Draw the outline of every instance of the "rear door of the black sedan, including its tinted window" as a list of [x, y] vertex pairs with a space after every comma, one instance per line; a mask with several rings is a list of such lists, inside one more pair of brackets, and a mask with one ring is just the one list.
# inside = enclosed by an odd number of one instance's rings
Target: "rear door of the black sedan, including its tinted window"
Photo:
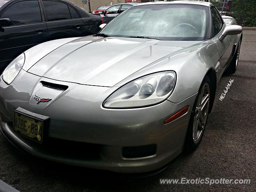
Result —
[[84, 22], [70, 5], [57, 0], [43, 0], [49, 39], [84, 36]]

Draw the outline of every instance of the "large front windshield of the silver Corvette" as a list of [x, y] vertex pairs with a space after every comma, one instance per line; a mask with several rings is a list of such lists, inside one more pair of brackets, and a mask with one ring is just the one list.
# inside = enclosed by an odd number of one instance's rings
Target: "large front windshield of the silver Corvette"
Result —
[[148, 37], [160, 40], [204, 40], [208, 33], [208, 9], [192, 4], [133, 6], [117, 16], [101, 34]]

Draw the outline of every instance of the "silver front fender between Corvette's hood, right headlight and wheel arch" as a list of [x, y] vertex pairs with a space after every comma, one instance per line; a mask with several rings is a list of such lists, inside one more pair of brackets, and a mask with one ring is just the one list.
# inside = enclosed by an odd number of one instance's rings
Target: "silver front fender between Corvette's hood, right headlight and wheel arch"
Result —
[[216, 43], [208, 40], [165, 56], [160, 61], [138, 70], [116, 86], [122, 86], [140, 76], [172, 70], [176, 72], [176, 86], [168, 100], [179, 103], [198, 92], [207, 72], [215, 68], [219, 58]]

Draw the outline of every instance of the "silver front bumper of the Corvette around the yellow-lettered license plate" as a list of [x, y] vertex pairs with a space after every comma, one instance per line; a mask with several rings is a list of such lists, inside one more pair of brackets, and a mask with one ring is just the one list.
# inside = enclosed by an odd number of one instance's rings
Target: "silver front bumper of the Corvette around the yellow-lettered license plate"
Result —
[[[42, 80], [67, 85], [68, 89], [62, 93], [50, 88], [46, 91], [39, 85]], [[196, 94], [178, 104], [166, 100], [145, 108], [103, 108], [102, 101], [115, 89], [57, 82], [22, 70], [10, 86], [0, 81], [1, 130], [12, 143], [34, 156], [114, 172], [149, 172], [180, 154]], [[36, 104], [33, 96], [38, 92], [54, 99]], [[186, 114], [163, 123], [185, 106], [189, 106]], [[18, 107], [50, 117], [47, 143], [38, 144], [13, 132], [13, 112]], [[154, 155], [123, 157], [124, 147], [152, 144], [156, 145]]]

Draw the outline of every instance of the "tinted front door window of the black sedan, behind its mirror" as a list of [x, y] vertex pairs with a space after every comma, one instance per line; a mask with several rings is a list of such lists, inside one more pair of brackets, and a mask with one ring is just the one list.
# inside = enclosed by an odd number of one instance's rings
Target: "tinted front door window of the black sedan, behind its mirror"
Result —
[[17, 2], [10, 6], [2, 14], [1, 18], [9, 18], [11, 20], [11, 25], [22, 25], [42, 21], [37, 0]]

